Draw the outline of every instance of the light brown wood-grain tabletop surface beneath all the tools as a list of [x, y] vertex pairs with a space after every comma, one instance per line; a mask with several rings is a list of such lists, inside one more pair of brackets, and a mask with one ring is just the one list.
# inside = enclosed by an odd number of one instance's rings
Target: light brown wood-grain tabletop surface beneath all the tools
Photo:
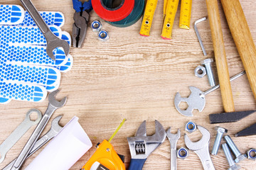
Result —
[[[255, 0], [240, 0], [240, 3], [245, 12], [252, 37], [256, 41], [256, 2]], [[0, 4], [21, 5], [18, 0], [1, 0]], [[74, 9], [71, 0], [33, 0], [33, 4], [40, 11], [63, 12], [65, 25], [62, 30], [72, 33]], [[74, 58], [73, 69], [62, 75], [61, 91], [57, 96], [59, 99], [68, 96], [68, 102], [53, 115], [53, 118], [60, 114], [63, 115], [60, 120], [61, 125], [68, 123], [74, 115], [78, 116], [82, 128], [92, 140], [92, 149], [81, 157], [71, 169], [80, 169], [95, 152], [97, 142], [108, 139], [123, 118], [127, 118], [127, 122], [112, 140], [112, 145], [119, 154], [124, 154], [127, 168], [130, 160], [127, 137], [134, 136], [143, 120], [147, 122], [148, 135], [154, 134], [154, 120], [159, 120], [165, 129], [171, 126], [172, 132], [176, 132], [180, 128], [181, 138], [178, 141], [178, 148], [185, 147], [183, 140], [185, 124], [188, 120], [193, 120], [210, 131], [210, 150], [212, 149], [216, 132], [214, 130], [215, 125], [209, 123], [208, 114], [223, 112], [220, 90], [208, 94], [203, 112], [195, 111], [191, 118], [181, 115], [174, 107], [174, 96], [177, 91], [181, 93], [181, 96], [188, 96], [188, 86], [196, 86], [202, 91], [210, 88], [207, 77], [199, 79], [194, 76], [193, 71], [201, 60], [206, 58], [203, 56], [192, 27], [194, 21], [207, 15], [206, 2], [193, 0], [190, 30], [178, 28], [179, 13], [180, 10], [178, 9], [173, 39], [163, 40], [160, 37], [163, 0], [159, 0], [156, 7], [149, 37], [139, 35], [141, 20], [128, 28], [114, 28], [102, 21], [94, 11], [91, 12], [90, 21], [100, 19], [103, 28], [110, 33], [110, 40], [107, 42], [97, 40], [97, 34], [89, 28], [83, 47], [70, 49], [70, 54]], [[220, 16], [229, 72], [230, 76], [233, 76], [243, 70], [242, 62], [230, 35], [221, 6]], [[213, 57], [208, 21], [200, 23], [198, 29], [208, 52], [207, 57]], [[215, 64], [213, 68], [215, 69]], [[217, 77], [217, 74], [215, 75]], [[255, 98], [252, 96], [247, 77], [243, 76], [231, 84], [235, 110], [255, 109]], [[47, 100], [42, 103], [11, 101], [9, 104], [1, 105], [0, 143], [21, 123], [29, 109], [38, 108], [44, 113], [47, 106]], [[233, 137], [241, 152], [246, 152], [251, 147], [256, 147], [255, 136], [234, 137], [234, 134], [253, 123], [256, 123], [256, 113], [238, 123], [225, 123], [220, 126], [228, 128], [228, 135]], [[49, 128], [50, 123], [44, 132], [47, 132]], [[18, 156], [31, 132], [33, 132], [33, 128], [8, 152], [6, 159], [0, 164], [0, 168]], [[200, 132], [197, 131], [194, 134], [196, 135], [193, 137], [190, 135], [193, 141], [201, 138]], [[38, 152], [26, 161], [24, 167], [36, 157]], [[215, 169], [228, 168], [228, 162], [222, 149], [212, 159]], [[242, 166], [242, 169], [256, 169], [256, 162], [252, 160], [245, 160], [239, 165]], [[146, 160], [144, 169], [164, 170], [170, 169], [169, 166], [170, 145], [169, 141], [166, 140]], [[187, 159], [177, 159], [177, 166], [178, 169], [203, 169], [200, 160], [193, 152], [189, 152]]]

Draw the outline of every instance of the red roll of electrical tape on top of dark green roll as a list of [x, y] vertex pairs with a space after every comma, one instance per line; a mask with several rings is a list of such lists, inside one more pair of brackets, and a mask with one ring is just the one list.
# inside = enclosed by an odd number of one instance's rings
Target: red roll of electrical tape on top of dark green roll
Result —
[[121, 21], [132, 12], [134, 0], [122, 0], [122, 4], [117, 8], [107, 8], [102, 0], [92, 0], [92, 8], [105, 21]]

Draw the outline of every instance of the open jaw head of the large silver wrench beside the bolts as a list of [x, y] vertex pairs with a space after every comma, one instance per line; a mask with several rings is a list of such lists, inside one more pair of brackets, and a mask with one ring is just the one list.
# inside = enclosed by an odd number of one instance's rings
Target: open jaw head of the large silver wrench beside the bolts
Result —
[[206, 128], [203, 128], [200, 125], [198, 125], [197, 128], [202, 133], [202, 138], [198, 142], [191, 142], [191, 140], [188, 138], [188, 135], [186, 134], [184, 135], [186, 147], [188, 147], [188, 149], [191, 149], [193, 151], [202, 149], [203, 147], [208, 145], [210, 142], [210, 132]]

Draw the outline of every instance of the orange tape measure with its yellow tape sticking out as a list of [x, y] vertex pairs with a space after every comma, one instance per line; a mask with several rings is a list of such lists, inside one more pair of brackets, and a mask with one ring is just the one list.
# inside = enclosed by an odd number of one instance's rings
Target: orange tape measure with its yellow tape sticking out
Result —
[[114, 131], [109, 141], [103, 140], [100, 145], [97, 145], [96, 152], [92, 154], [89, 161], [82, 166], [82, 170], [125, 170], [124, 160], [120, 158], [122, 155], [117, 154], [114, 147], [110, 144], [110, 141], [122, 127], [125, 120], [126, 119], [122, 120], [122, 123], [118, 126], [117, 130]]

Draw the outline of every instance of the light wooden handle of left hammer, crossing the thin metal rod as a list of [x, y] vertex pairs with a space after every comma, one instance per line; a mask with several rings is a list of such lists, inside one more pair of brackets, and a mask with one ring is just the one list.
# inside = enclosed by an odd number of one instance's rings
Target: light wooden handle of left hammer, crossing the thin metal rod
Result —
[[220, 93], [223, 101], [223, 107], [225, 112], [234, 112], [235, 106], [230, 85], [228, 62], [226, 59], [225, 46], [223, 41], [223, 32], [220, 25], [218, 1], [206, 0], [206, 5], [210, 23], [210, 33], [213, 39], [213, 49], [218, 72], [218, 79], [220, 82]]

